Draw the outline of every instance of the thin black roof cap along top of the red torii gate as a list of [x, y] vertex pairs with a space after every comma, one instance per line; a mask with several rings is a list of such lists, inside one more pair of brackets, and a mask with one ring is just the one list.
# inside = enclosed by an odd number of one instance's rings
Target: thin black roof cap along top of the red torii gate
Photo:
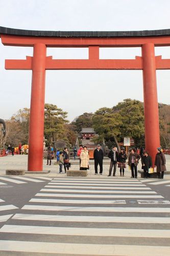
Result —
[[142, 37], [170, 35], [170, 29], [139, 31], [40, 31], [0, 27], [0, 34], [48, 37]]

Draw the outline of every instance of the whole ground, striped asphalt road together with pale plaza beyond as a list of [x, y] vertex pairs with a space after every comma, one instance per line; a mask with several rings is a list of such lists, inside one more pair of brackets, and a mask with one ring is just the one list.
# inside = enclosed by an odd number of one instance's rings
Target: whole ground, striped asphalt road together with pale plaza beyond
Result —
[[46, 160], [48, 174], [7, 176], [5, 169], [27, 169], [27, 156], [0, 158], [0, 255], [170, 254], [169, 175], [130, 179], [117, 168], [108, 177], [107, 158], [103, 175], [94, 175], [90, 162], [87, 177], [60, 175]]

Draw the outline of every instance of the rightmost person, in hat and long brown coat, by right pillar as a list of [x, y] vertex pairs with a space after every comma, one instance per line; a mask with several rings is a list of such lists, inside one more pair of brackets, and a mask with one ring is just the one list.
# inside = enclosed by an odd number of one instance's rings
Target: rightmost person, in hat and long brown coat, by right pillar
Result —
[[159, 179], [163, 179], [164, 172], [166, 170], [165, 164], [166, 164], [166, 159], [163, 154], [162, 148], [157, 147], [157, 154], [155, 157], [155, 165], [156, 165], [156, 172], [158, 174]]

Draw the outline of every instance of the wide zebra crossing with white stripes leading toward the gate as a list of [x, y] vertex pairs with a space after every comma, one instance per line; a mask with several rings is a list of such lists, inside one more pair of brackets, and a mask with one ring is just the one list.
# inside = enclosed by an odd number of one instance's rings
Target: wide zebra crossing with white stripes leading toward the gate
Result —
[[[58, 180], [49, 180], [28, 204], [9, 217], [0, 229], [2, 237], [10, 236], [8, 241], [0, 240], [2, 251], [113, 256], [170, 254], [170, 202], [150, 187], [131, 180]], [[68, 182], [64, 184], [65, 180]], [[135, 204], [129, 207], [127, 203]], [[76, 243], [72, 243], [72, 238]]]

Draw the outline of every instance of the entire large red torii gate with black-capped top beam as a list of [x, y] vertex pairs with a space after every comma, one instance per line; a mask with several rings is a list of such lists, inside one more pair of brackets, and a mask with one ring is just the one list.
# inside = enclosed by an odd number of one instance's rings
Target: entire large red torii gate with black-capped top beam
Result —
[[[170, 30], [120, 32], [31, 31], [0, 27], [5, 46], [33, 47], [33, 57], [6, 60], [9, 70], [32, 70], [28, 170], [41, 171], [43, 163], [45, 70], [142, 70], [145, 147], [154, 161], [160, 146], [156, 70], [170, 69], [170, 59], [155, 56], [155, 46], [170, 46]], [[47, 47], [89, 49], [88, 59], [53, 59]], [[100, 47], [141, 47], [135, 59], [99, 59]]]

